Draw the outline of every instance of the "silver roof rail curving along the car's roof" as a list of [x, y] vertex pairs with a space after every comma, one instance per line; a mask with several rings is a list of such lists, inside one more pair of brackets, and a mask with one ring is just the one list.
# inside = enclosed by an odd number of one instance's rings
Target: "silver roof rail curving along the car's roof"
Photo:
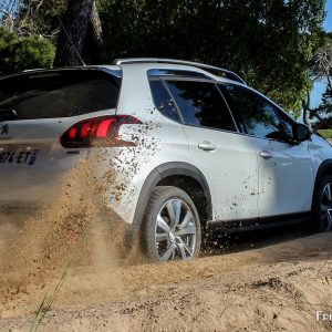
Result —
[[242, 84], [247, 84], [239, 75], [237, 75], [236, 73], [222, 69], [222, 68], [218, 68], [218, 66], [214, 66], [214, 65], [209, 65], [209, 64], [204, 64], [204, 63], [198, 63], [198, 62], [191, 62], [191, 61], [185, 61], [185, 60], [176, 60], [176, 59], [162, 59], [162, 58], [126, 58], [126, 59], [115, 59], [113, 61], [113, 64], [123, 64], [123, 63], [173, 63], [173, 64], [184, 64], [184, 65], [191, 65], [191, 66], [196, 66], [199, 69], [203, 69], [216, 76], [221, 76], [221, 77], [226, 77], [228, 80], [232, 80]]

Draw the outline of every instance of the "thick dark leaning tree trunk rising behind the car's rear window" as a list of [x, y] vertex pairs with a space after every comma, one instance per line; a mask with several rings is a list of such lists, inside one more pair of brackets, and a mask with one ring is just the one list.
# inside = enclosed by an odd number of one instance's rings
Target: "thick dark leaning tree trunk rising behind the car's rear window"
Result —
[[83, 64], [81, 53], [93, 0], [70, 0], [58, 39], [54, 66]]

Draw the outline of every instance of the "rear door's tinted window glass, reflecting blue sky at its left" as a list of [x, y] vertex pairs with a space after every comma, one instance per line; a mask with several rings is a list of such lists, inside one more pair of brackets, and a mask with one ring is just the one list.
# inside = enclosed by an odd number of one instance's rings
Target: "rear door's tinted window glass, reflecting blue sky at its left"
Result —
[[186, 124], [236, 132], [230, 111], [215, 83], [165, 81]]

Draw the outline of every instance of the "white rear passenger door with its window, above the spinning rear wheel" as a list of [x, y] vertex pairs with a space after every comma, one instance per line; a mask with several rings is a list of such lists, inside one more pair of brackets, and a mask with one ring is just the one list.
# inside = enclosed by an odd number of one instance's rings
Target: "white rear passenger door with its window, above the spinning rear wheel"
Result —
[[194, 165], [209, 185], [214, 219], [257, 218], [258, 164], [252, 138], [239, 134], [217, 85], [165, 79], [183, 117]]

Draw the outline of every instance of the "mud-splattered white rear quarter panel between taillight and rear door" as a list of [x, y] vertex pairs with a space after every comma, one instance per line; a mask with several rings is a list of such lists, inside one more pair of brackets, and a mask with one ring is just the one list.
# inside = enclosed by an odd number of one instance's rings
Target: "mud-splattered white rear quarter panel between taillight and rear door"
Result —
[[137, 117], [139, 125], [122, 125], [120, 137], [132, 147], [92, 151], [96, 178], [105, 204], [132, 224], [138, 197], [147, 176], [169, 162], [190, 163], [188, 142], [181, 125], [164, 117], [155, 107], [147, 69], [122, 68], [123, 81], [116, 114]]

